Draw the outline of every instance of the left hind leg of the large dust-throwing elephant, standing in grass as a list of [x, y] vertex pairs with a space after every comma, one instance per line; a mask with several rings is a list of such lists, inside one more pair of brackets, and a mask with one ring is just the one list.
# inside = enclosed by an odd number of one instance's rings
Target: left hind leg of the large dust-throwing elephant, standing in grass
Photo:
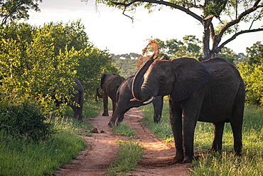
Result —
[[224, 131], [225, 122], [213, 123], [214, 125], [214, 140], [210, 151], [222, 150], [222, 133]]

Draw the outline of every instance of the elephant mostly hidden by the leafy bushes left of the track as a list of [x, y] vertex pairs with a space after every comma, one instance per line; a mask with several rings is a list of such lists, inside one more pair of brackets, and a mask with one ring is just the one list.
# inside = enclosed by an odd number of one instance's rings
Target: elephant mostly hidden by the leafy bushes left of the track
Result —
[[[82, 84], [80, 81], [77, 80], [77, 78], [73, 78], [75, 81], [76, 85], [74, 86], [74, 89], [77, 90], [77, 93], [73, 93], [73, 98], [71, 100], [77, 105], [70, 104], [70, 107], [73, 109], [74, 112], [74, 118], [77, 120], [82, 120], [82, 108], [83, 108], [83, 95], [84, 95], [84, 89], [82, 87]], [[55, 99], [56, 106], [59, 107], [60, 104], [62, 103], [60, 100]]]

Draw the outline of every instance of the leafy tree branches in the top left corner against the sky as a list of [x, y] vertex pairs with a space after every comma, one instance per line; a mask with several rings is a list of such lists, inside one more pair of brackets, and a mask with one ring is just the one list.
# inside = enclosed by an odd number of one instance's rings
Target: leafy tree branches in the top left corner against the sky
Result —
[[38, 2], [42, 0], [0, 0], [1, 27], [8, 21], [28, 19], [28, 11], [40, 11]]

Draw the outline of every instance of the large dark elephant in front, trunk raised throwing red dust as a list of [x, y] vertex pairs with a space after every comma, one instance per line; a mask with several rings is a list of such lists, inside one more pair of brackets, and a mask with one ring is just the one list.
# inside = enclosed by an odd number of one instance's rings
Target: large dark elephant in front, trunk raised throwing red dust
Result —
[[193, 58], [151, 58], [136, 73], [132, 91], [134, 98], [141, 101], [168, 95], [176, 146], [174, 162], [192, 162], [197, 120], [215, 127], [210, 150], [222, 149], [223, 128], [230, 123], [234, 151], [237, 155], [242, 152], [245, 85], [237, 68], [225, 59], [215, 57], [199, 62]]

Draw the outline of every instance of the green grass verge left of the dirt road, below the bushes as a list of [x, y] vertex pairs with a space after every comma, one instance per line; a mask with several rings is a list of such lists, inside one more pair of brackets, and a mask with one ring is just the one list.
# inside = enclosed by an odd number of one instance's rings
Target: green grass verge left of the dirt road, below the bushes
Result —
[[0, 132], [0, 175], [52, 175], [61, 165], [70, 163], [86, 147], [77, 136], [90, 135], [81, 130], [92, 128], [85, 119], [95, 118], [101, 106], [85, 103], [83, 109], [82, 122], [66, 117], [68, 114], [64, 118], [50, 117], [55, 133], [38, 143]]

